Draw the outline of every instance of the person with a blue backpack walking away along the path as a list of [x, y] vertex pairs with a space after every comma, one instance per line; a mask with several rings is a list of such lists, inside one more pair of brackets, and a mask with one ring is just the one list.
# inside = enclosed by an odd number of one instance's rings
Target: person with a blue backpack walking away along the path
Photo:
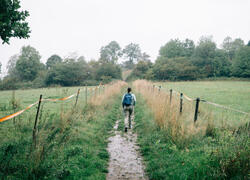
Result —
[[131, 129], [131, 120], [134, 119], [134, 106], [136, 102], [135, 95], [131, 93], [132, 89], [129, 87], [127, 91], [122, 98], [122, 108], [125, 115], [125, 132], [128, 131], [128, 128]]

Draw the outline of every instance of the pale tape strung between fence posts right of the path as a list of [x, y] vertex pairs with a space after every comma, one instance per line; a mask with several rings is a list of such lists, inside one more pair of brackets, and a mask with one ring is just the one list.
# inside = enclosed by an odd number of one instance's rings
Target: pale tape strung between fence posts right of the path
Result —
[[[157, 87], [156, 85], [153, 85], [153, 87]], [[158, 86], [159, 89], [167, 89], [167, 88], [163, 88], [162, 86]], [[173, 89], [170, 89], [170, 91], [176, 93], [176, 94], [181, 94], [180, 92], [178, 91], [175, 91]], [[170, 92], [171, 93], [171, 92]], [[183, 94], [183, 93], [182, 93]], [[190, 97], [188, 97], [186, 94], [183, 94], [183, 97], [188, 100], [188, 101], [197, 101], [197, 99], [192, 99]], [[209, 101], [206, 101], [204, 99], [201, 99], [199, 100], [201, 102], [204, 102], [204, 103], [207, 103], [207, 104], [210, 104], [210, 105], [213, 105], [213, 106], [216, 106], [216, 107], [220, 107], [220, 108], [224, 108], [224, 109], [228, 109], [228, 110], [231, 110], [231, 111], [235, 111], [235, 112], [238, 112], [238, 113], [242, 113], [242, 114], [245, 114], [245, 115], [250, 115], [250, 113], [247, 113], [247, 112], [244, 112], [244, 111], [241, 111], [241, 110], [238, 110], [238, 109], [234, 109], [234, 108], [230, 108], [230, 107], [227, 107], [227, 106], [224, 106], [224, 105], [220, 105], [220, 104], [216, 104], [216, 103], [213, 103], [213, 102], [209, 102]]]

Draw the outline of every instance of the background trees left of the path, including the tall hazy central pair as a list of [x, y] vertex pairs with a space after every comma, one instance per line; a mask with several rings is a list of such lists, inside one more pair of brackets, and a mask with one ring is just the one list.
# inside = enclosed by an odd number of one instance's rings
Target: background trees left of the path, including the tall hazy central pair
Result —
[[[140, 54], [138, 44], [128, 44], [124, 49], [116, 41], [101, 47], [98, 60], [86, 61], [84, 56], [72, 53], [62, 58], [50, 56], [41, 62], [40, 53], [31, 46], [23, 46], [19, 54], [13, 55], [7, 63], [7, 75], [0, 80], [0, 89], [39, 88], [47, 86], [80, 86], [108, 83], [122, 79], [122, 68], [133, 68]], [[124, 57], [125, 63], [118, 59]]]

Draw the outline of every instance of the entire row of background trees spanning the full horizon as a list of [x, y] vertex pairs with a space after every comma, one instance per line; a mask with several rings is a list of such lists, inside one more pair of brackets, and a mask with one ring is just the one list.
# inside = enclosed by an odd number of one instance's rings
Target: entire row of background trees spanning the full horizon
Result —
[[[119, 62], [120, 58], [125, 61]], [[240, 38], [226, 37], [218, 48], [207, 36], [201, 37], [197, 45], [190, 39], [172, 39], [160, 48], [154, 63], [135, 43], [122, 49], [111, 41], [101, 47], [98, 60], [87, 62], [74, 53], [65, 58], [54, 54], [45, 64], [35, 48], [24, 46], [20, 54], [9, 59], [8, 74], [0, 81], [0, 89], [97, 85], [121, 79], [122, 71], [128, 69], [132, 70], [128, 80], [250, 78], [250, 41], [244, 44]]]

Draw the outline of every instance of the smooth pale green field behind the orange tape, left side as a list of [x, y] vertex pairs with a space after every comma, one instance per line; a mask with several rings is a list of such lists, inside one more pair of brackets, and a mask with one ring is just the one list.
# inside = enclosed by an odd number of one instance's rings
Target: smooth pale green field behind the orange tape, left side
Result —
[[[93, 87], [88, 87], [88, 98], [93, 96], [94, 91], [90, 91]], [[30, 90], [15, 90], [15, 91], [1, 91], [0, 94], [0, 117], [12, 114], [14, 111], [18, 111], [26, 108], [28, 105], [38, 101], [40, 94], [43, 95], [43, 99], [58, 99], [67, 97], [72, 94], [76, 94], [80, 89], [78, 105], [82, 106], [86, 103], [86, 92], [85, 87], [54, 87], [54, 88], [41, 88], [41, 89], [30, 89]], [[14, 93], [14, 95], [13, 95]], [[13, 107], [13, 98], [17, 107]], [[76, 96], [66, 101], [57, 102], [43, 102], [43, 111], [46, 112], [57, 112], [61, 108], [71, 108], [75, 104]], [[34, 114], [36, 108], [31, 108], [25, 114]]]

